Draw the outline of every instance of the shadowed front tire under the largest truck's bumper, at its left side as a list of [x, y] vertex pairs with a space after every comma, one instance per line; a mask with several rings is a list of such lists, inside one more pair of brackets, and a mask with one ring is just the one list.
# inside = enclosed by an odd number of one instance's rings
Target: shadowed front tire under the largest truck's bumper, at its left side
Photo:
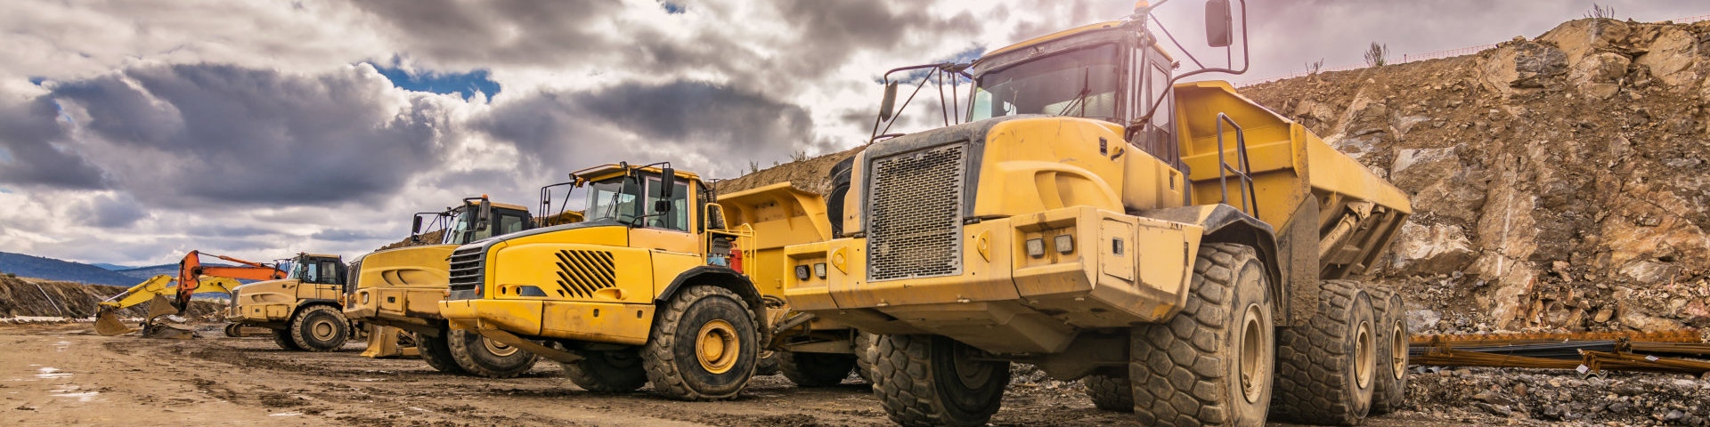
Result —
[[1009, 362], [968, 362], [990, 369], [978, 386], [958, 379], [956, 352], [978, 352], [937, 335], [879, 335], [872, 393], [901, 425], [985, 425], [1004, 405]]

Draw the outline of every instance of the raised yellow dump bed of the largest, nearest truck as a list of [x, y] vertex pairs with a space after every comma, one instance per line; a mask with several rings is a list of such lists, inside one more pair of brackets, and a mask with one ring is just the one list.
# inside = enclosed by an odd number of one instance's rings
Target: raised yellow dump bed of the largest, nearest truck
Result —
[[[1407, 193], [1228, 82], [1178, 84], [1175, 96], [1190, 203], [1224, 202], [1253, 214], [1276, 229], [1293, 260], [1317, 258], [1318, 278], [1368, 270], [1412, 214]], [[1245, 167], [1236, 155], [1241, 143]], [[1241, 169], [1252, 176], [1250, 193]]]

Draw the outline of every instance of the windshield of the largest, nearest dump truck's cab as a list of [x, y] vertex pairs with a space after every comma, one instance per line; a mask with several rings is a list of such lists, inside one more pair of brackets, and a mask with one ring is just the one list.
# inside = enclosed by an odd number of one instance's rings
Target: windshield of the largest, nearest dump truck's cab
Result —
[[1118, 61], [1115, 44], [1100, 44], [982, 73], [968, 118], [1057, 114], [1117, 121]]

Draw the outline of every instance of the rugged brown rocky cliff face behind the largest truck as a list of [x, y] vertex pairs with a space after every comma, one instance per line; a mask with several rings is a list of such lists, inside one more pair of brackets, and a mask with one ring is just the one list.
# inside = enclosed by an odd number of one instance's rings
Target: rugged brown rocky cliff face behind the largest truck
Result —
[[1710, 22], [1582, 19], [1241, 92], [1412, 195], [1375, 280], [1423, 330], [1710, 326]]

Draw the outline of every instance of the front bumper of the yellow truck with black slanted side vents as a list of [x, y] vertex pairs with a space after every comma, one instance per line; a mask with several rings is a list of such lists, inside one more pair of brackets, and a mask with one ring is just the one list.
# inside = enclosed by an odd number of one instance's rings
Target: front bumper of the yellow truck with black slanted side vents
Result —
[[578, 302], [545, 299], [451, 299], [439, 316], [453, 328], [496, 328], [522, 336], [604, 343], [646, 343], [653, 325], [652, 304]]

